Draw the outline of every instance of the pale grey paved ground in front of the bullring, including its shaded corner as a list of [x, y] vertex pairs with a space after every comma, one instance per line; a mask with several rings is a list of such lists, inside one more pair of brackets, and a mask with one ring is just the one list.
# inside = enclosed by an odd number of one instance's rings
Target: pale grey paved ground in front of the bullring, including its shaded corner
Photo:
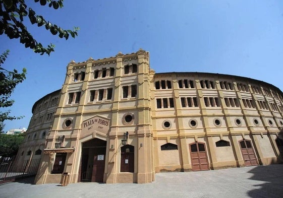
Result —
[[156, 181], [33, 185], [33, 178], [0, 185], [0, 197], [283, 197], [283, 164], [199, 172], [157, 173]]

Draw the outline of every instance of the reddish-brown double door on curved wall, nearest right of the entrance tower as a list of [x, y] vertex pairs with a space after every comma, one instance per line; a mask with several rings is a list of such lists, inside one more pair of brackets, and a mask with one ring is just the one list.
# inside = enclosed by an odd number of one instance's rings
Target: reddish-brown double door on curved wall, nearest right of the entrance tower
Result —
[[209, 170], [208, 159], [205, 151], [204, 143], [190, 144], [192, 170]]

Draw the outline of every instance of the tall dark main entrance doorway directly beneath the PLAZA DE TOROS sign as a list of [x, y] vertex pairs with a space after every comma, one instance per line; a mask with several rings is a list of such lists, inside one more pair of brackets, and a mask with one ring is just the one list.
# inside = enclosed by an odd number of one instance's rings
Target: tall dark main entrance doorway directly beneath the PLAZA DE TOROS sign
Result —
[[103, 182], [106, 143], [95, 138], [82, 144], [81, 181]]

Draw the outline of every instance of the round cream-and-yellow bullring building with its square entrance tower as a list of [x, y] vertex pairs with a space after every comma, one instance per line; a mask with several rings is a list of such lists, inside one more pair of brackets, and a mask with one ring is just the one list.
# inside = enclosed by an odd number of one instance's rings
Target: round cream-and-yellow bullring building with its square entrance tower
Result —
[[71, 61], [32, 107], [17, 167], [36, 184], [147, 183], [164, 171], [282, 162], [283, 93], [239, 76], [155, 73], [140, 49]]

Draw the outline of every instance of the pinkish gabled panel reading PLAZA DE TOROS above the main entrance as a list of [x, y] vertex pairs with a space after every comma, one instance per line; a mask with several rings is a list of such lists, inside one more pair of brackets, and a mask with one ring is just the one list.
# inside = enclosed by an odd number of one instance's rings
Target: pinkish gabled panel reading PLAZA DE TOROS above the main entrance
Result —
[[106, 134], [110, 128], [110, 119], [100, 116], [94, 116], [90, 119], [83, 121], [82, 133], [88, 133], [91, 131], [99, 131]]

